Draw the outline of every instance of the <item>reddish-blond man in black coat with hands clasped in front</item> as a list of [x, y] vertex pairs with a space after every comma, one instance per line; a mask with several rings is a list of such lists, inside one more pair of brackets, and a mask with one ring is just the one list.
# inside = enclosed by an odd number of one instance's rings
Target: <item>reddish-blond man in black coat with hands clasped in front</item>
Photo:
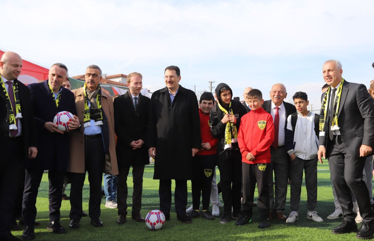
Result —
[[140, 93], [143, 84], [140, 73], [129, 73], [129, 91], [114, 99], [114, 129], [117, 135], [117, 162], [119, 178], [117, 183], [118, 224], [126, 222], [127, 176], [132, 166], [132, 219], [145, 222], [141, 216], [144, 165], [149, 164], [148, 149], [145, 146], [150, 98]]

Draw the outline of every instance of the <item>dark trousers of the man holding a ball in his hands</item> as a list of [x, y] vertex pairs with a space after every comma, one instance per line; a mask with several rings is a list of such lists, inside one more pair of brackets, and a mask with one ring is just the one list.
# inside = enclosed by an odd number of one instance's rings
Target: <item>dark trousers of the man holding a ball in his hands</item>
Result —
[[[25, 169], [25, 190], [22, 201], [22, 217], [26, 226], [32, 225], [36, 217], [36, 197], [44, 170]], [[65, 170], [49, 170], [49, 221], [60, 220], [61, 190]]]

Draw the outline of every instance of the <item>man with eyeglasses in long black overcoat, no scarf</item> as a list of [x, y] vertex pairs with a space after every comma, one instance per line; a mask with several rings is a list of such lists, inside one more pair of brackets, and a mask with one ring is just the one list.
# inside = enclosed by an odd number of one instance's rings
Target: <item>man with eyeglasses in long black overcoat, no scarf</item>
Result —
[[[160, 180], [160, 210], [170, 219], [171, 180], [175, 180], [175, 211], [182, 223], [186, 215], [187, 180], [192, 178], [192, 157], [201, 147], [196, 94], [179, 85], [180, 69], [165, 69], [166, 87], [152, 94], [147, 145], [154, 160], [153, 179]], [[156, 152], [157, 150], [157, 152]]]

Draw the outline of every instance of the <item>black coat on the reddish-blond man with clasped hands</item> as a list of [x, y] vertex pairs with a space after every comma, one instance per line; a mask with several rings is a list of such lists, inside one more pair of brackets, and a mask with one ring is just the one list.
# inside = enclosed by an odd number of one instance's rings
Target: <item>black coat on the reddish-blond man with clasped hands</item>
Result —
[[[116, 153], [119, 167], [149, 164], [147, 123], [150, 98], [138, 96], [138, 113], [129, 91], [114, 99], [114, 130], [117, 135]], [[132, 150], [132, 141], [143, 140], [142, 147]]]

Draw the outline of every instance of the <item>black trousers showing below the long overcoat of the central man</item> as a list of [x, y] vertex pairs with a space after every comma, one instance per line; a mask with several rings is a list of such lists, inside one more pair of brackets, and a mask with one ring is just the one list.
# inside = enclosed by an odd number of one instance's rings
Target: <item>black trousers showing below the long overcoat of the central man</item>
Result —
[[[165, 217], [170, 217], [171, 179], [160, 179], [159, 196], [160, 211], [165, 214]], [[175, 180], [174, 203], [177, 215], [186, 215], [187, 180]]]

